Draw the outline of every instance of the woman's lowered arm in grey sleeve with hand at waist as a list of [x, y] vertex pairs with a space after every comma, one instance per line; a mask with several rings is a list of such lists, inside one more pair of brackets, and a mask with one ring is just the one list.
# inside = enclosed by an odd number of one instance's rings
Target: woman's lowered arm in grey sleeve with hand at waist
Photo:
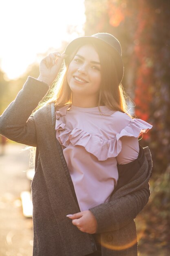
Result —
[[[131, 222], [148, 202], [152, 171], [149, 148], [140, 146], [137, 159], [121, 165], [120, 171], [125, 171], [126, 177], [123, 177], [121, 186], [118, 183], [119, 190], [114, 191], [109, 202], [68, 216], [82, 232], [94, 234], [120, 229]], [[131, 178], [128, 180], [129, 175]]]

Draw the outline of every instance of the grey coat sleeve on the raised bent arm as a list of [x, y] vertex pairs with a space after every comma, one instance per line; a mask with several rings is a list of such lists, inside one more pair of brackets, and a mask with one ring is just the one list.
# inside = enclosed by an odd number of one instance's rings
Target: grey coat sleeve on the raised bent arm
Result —
[[36, 146], [33, 110], [38, 106], [49, 86], [29, 76], [22, 90], [0, 116], [0, 134], [13, 141]]

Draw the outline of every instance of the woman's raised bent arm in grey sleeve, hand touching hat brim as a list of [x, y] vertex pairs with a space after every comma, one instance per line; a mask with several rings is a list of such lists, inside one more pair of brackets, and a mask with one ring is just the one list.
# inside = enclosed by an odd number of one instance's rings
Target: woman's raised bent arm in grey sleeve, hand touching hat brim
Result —
[[57, 58], [58, 52], [49, 54], [40, 62], [40, 76], [29, 76], [16, 99], [0, 116], [0, 134], [29, 146], [36, 146], [36, 132], [33, 110], [38, 106], [49, 86], [53, 83], [66, 54]]

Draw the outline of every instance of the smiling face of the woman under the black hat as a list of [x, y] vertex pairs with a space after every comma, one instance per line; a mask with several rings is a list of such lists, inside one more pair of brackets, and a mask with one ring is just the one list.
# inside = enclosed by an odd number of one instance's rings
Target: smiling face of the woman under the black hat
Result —
[[83, 45], [68, 66], [67, 82], [73, 94], [98, 97], [101, 83], [99, 56], [92, 45]]

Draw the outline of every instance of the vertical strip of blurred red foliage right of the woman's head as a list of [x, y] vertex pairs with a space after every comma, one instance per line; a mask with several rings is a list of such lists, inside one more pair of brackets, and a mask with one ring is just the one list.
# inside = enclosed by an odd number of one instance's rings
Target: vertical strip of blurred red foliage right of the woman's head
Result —
[[[137, 45], [134, 47], [134, 63], [139, 63], [137, 68], [137, 75], [135, 81], [135, 99], [136, 104], [135, 114], [137, 118], [148, 121], [150, 116], [150, 102], [152, 101], [152, 94], [150, 91], [150, 84], [152, 84], [152, 59], [150, 44], [150, 29], [154, 15], [145, 1], [139, 0], [139, 12], [137, 16], [138, 27], [134, 35], [134, 42]], [[149, 135], [145, 134], [144, 139], [148, 139]]]

